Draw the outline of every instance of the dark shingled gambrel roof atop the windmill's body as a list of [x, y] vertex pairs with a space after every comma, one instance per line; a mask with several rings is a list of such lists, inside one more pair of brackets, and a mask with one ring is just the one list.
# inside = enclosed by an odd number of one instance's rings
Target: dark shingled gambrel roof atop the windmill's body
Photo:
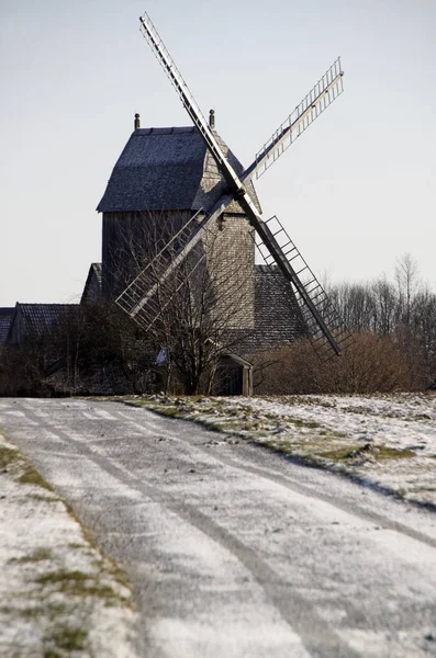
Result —
[[[242, 173], [244, 167], [216, 133], [215, 138], [236, 173]], [[208, 209], [225, 188], [194, 126], [138, 128], [115, 163], [97, 209], [100, 213]], [[258, 205], [253, 183], [247, 189]], [[228, 212], [242, 209], [238, 206]]]

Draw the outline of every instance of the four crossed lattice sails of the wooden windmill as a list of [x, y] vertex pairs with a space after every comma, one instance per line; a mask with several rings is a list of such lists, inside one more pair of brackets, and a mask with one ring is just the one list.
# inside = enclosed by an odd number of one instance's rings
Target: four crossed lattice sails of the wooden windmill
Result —
[[[203, 231], [206, 230], [206, 226], [215, 217], [220, 216], [233, 200], [237, 200], [259, 237], [267, 263], [270, 265], [273, 263], [295, 291], [303, 317], [305, 318], [308, 333], [315, 348], [317, 348], [317, 351], [326, 354], [340, 354], [342, 349], [350, 342], [350, 334], [346, 332], [325, 291], [286, 234], [283, 227], [279, 225], [277, 230], [271, 229], [273, 224], [261, 219], [256, 205], [244, 185], [244, 180], [251, 178], [256, 170], [261, 168], [265, 170], [271, 161], [277, 159], [280, 151], [284, 150], [286, 145], [292, 143], [297, 129], [301, 132], [305, 129], [317, 115], [316, 112], [321, 113], [332, 102], [325, 100], [331, 91], [334, 93], [338, 93], [338, 89], [342, 91], [343, 73], [340, 63], [337, 60], [328, 69], [325, 80], [323, 78], [308, 94], [303, 103], [300, 104], [301, 107], [298, 106], [297, 118], [292, 120], [291, 115], [288, 123], [279, 128], [276, 137], [273, 136], [260, 151], [255, 163], [239, 178], [223, 154], [192, 93], [146, 13], [141, 19], [141, 31], [167, 72], [168, 78], [176, 88], [186, 110], [198, 127], [208, 149], [233, 192], [224, 195], [211, 212], [205, 215], [204, 219], [198, 224], [194, 230], [192, 230], [191, 220], [189, 226], [187, 225], [186, 227], [186, 232], [177, 238], [180, 247], [177, 253], [174, 253], [174, 258], [168, 261], [163, 252], [158, 254], [152, 261], [152, 268], [144, 270], [131, 286], [120, 295], [116, 300], [118, 304], [142, 326], [153, 324], [153, 299], [159, 286], [165, 284], [169, 276], [177, 271], [178, 264], [188, 257], [200, 241]], [[339, 83], [340, 87], [337, 87]], [[276, 219], [276, 222], [278, 220]], [[282, 237], [284, 237], [283, 243], [281, 243]], [[154, 274], [154, 279], [150, 279], [152, 270], [154, 273], [157, 273]]]

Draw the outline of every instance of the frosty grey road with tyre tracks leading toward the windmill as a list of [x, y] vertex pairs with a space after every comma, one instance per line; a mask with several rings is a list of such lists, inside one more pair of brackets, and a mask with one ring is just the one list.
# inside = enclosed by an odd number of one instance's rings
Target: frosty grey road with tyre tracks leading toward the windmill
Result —
[[436, 656], [436, 515], [145, 409], [0, 400], [126, 568], [144, 658]]

